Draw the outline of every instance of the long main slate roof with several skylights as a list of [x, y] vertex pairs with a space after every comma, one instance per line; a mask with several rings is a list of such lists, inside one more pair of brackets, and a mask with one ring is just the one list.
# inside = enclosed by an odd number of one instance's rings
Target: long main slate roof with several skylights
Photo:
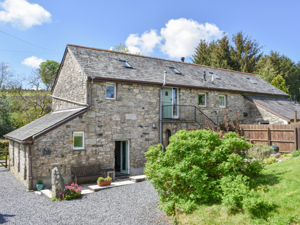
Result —
[[[67, 44], [67, 49], [73, 54], [81, 69], [83, 65], [87, 64], [89, 58], [89, 65], [84, 67], [84, 73], [88, 77], [96, 77], [96, 79], [161, 85], [164, 77], [163, 71], [166, 70], [166, 85], [169, 86], [288, 96], [288, 94], [250, 73], [72, 44]], [[133, 69], [125, 68], [119, 60], [126, 60]], [[183, 75], [175, 74], [169, 68], [170, 66], [176, 68]], [[204, 71], [206, 71], [207, 82], [203, 81]], [[221, 79], [214, 78], [212, 83], [209, 72], [213, 72]], [[247, 78], [257, 84], [250, 82]]]

